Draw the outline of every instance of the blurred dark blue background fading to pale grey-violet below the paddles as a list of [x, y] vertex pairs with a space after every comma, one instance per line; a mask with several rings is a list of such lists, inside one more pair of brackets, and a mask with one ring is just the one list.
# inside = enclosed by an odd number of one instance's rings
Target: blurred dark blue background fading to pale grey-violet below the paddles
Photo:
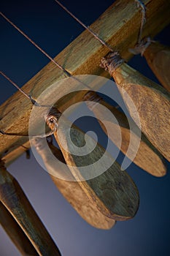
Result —
[[[112, 2], [112, 0], [63, 1], [69, 10], [87, 25], [93, 23]], [[83, 31], [82, 27], [53, 0], [1, 0], [1, 12], [4, 12], [52, 57]], [[0, 18], [0, 24], [1, 70], [22, 86], [45, 67], [49, 60], [4, 18]], [[158, 35], [158, 39], [169, 45], [168, 35], [169, 29], [164, 29]], [[140, 56], [132, 59], [130, 64], [155, 80], [155, 76]], [[0, 78], [0, 89], [1, 102], [16, 91], [4, 78]], [[82, 127], [84, 125], [82, 121]], [[97, 230], [81, 219], [55, 189], [53, 182], [33, 156], [30, 160], [26, 160], [25, 156], [20, 157], [9, 167], [9, 171], [18, 178], [63, 256], [170, 255], [169, 171], [163, 178], [155, 178], [134, 164], [128, 168], [128, 173], [134, 178], [139, 189], [139, 211], [134, 219], [117, 222], [111, 230]], [[2, 229], [0, 229], [0, 255], [19, 255]]]

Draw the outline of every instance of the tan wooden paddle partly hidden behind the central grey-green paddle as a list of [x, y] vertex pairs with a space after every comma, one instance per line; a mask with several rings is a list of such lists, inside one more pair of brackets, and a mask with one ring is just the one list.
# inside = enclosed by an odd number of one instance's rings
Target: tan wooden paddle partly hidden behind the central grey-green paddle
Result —
[[[66, 181], [64, 179], [58, 178], [58, 173], [61, 173], [62, 165], [60, 166], [60, 162], [57, 163], [53, 159], [53, 156], [49, 151], [47, 151], [47, 144], [45, 143], [45, 139], [43, 138], [34, 138], [32, 140], [33, 145], [36, 148], [36, 151], [42, 157], [43, 162], [45, 163], [45, 167], [47, 171], [50, 173], [50, 177], [52, 178], [55, 186], [61, 192], [63, 197], [72, 205], [72, 207], [77, 211], [78, 214], [85, 219], [93, 227], [97, 227], [100, 229], [110, 229], [115, 225], [115, 220], [110, 219], [101, 213], [101, 211], [96, 208], [96, 205], [93, 204], [86, 195], [85, 191], [80, 187], [79, 182], [77, 181]], [[60, 149], [56, 148], [53, 143], [48, 143], [52, 153], [54, 156], [66, 164], [65, 159], [63, 158], [63, 154]], [[67, 168], [68, 173], [72, 176], [69, 168]], [[51, 174], [53, 173], [53, 175]], [[71, 177], [70, 177], [71, 179]], [[72, 178], [74, 179], [74, 178]]]

